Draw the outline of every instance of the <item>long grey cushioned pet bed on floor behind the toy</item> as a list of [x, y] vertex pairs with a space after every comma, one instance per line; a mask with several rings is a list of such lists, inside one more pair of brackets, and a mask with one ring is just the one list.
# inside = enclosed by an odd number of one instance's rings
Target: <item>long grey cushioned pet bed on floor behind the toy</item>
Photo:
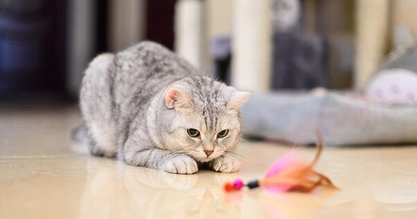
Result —
[[246, 136], [326, 145], [416, 143], [417, 106], [391, 106], [328, 92], [253, 94], [242, 108]]

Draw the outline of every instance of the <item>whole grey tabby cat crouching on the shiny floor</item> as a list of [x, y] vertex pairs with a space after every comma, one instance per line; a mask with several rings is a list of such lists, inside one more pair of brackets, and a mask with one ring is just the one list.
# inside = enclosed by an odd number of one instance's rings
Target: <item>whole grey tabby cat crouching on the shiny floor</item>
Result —
[[85, 71], [80, 107], [89, 149], [127, 164], [192, 174], [198, 164], [236, 172], [239, 107], [250, 96], [215, 81], [165, 47], [141, 42], [98, 55]]

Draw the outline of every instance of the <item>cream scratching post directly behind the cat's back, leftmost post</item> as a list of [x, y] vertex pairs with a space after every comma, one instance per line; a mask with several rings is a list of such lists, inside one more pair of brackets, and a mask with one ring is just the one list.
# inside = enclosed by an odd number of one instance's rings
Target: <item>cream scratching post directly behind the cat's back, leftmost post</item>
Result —
[[175, 51], [198, 69], [206, 62], [204, 1], [181, 0], [175, 6]]

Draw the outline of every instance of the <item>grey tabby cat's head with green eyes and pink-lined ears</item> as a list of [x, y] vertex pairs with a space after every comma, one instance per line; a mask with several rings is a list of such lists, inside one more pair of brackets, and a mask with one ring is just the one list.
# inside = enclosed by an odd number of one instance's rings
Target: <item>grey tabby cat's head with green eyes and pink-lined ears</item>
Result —
[[166, 109], [156, 118], [161, 143], [197, 161], [222, 156], [240, 140], [239, 108], [250, 95], [207, 77], [173, 83], [165, 93]]

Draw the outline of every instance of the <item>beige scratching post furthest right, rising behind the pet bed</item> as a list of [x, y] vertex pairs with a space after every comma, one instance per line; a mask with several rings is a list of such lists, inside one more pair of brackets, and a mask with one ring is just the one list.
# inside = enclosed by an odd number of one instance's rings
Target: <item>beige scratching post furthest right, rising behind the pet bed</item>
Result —
[[389, 0], [357, 0], [355, 87], [362, 89], [387, 48]]

